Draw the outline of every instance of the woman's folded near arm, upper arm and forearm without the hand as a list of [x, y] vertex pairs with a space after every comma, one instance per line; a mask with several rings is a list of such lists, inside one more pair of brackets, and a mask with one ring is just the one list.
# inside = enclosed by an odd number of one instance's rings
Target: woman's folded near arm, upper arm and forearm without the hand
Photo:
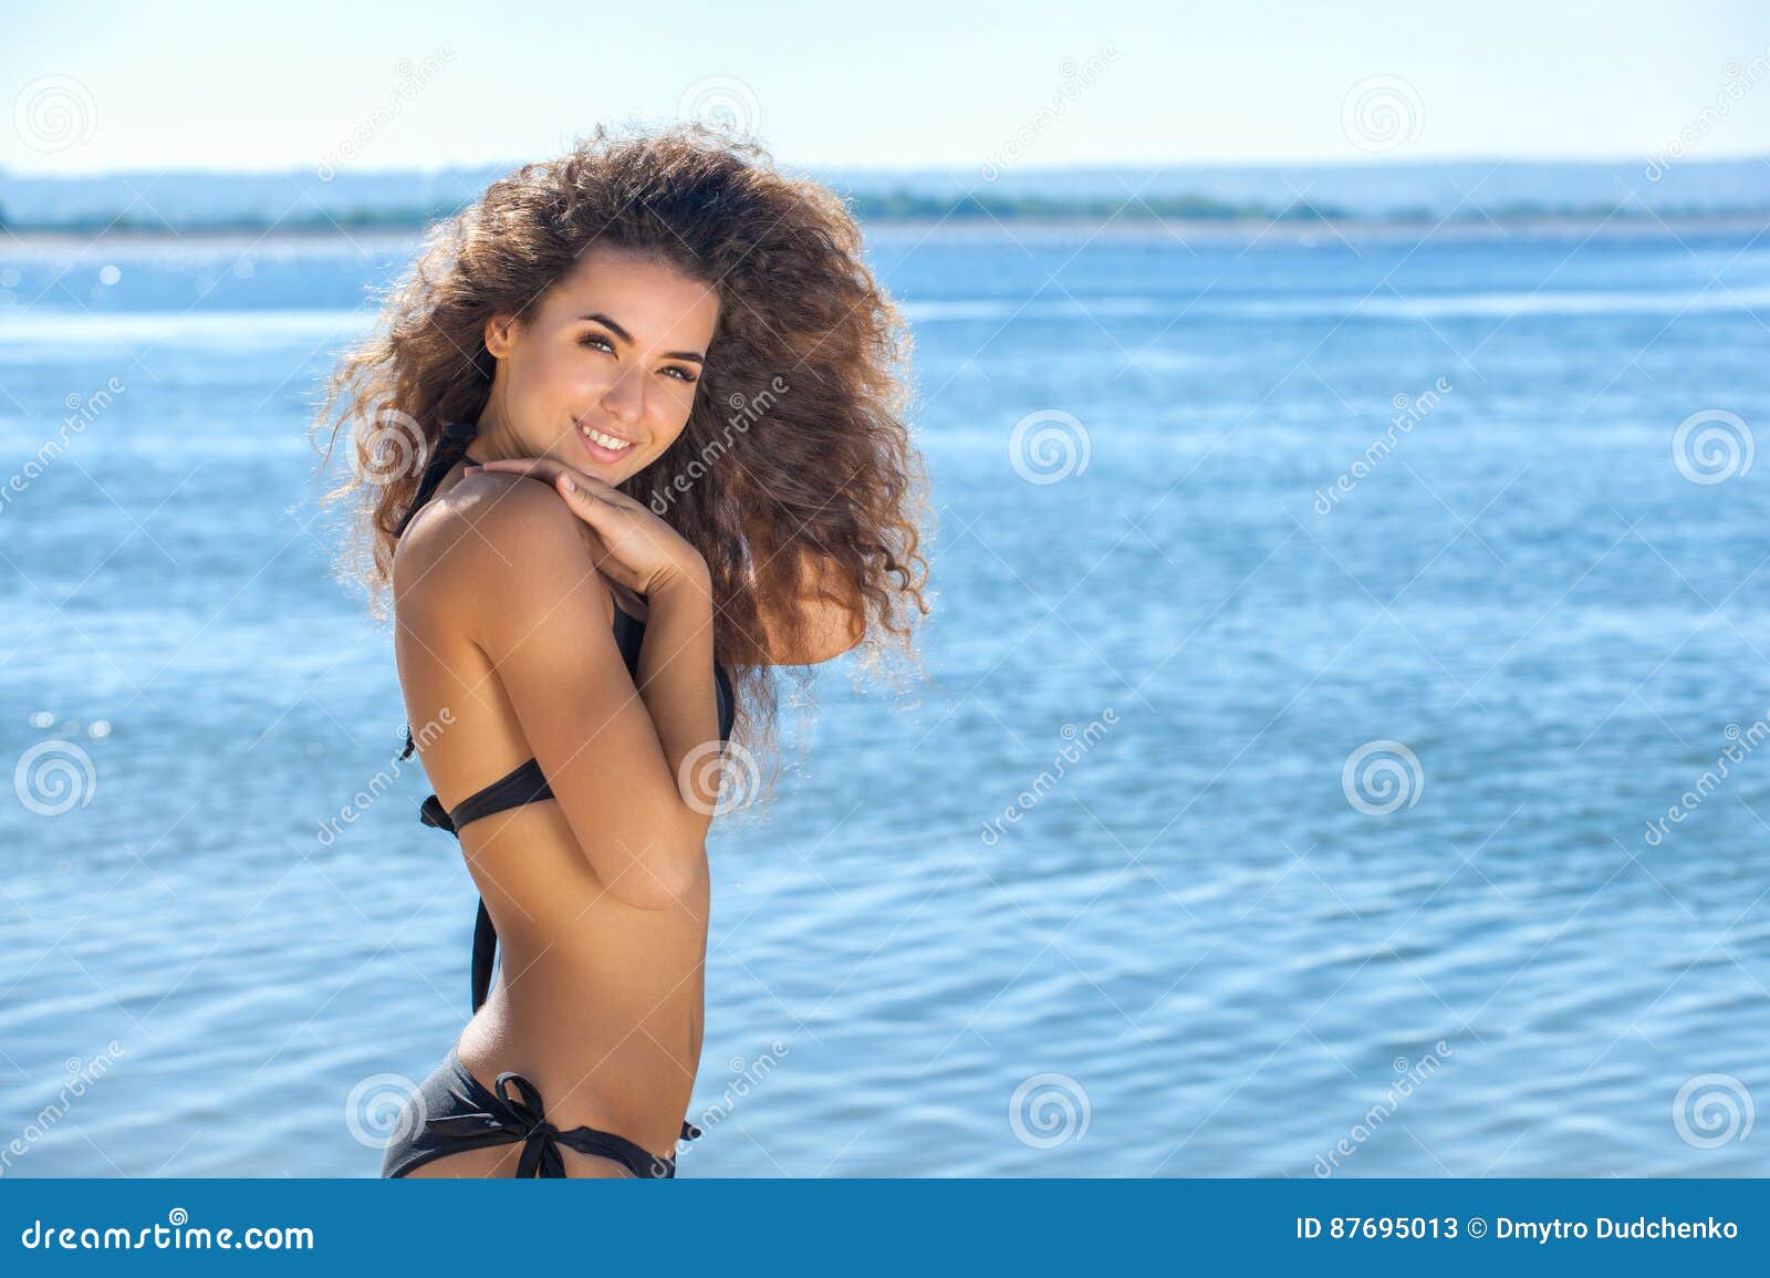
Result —
[[627, 905], [671, 908], [704, 873], [708, 818], [683, 802], [676, 768], [697, 736], [719, 735], [712, 627], [697, 639], [689, 597], [662, 591], [641, 696], [575, 515], [540, 485], [504, 483], [513, 490], [485, 504], [478, 536], [457, 543], [473, 561], [471, 637], [596, 876]]

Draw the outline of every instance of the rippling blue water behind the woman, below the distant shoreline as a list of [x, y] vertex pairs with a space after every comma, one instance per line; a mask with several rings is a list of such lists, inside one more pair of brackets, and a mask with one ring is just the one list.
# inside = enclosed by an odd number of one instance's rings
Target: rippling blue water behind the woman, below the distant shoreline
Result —
[[[1770, 460], [1673, 453], [1770, 423], [1770, 244], [871, 243], [926, 667], [713, 828], [683, 1175], [1770, 1172]], [[466, 1018], [423, 777], [317, 837], [404, 713], [304, 423], [409, 251], [0, 250], [0, 471], [122, 388], [0, 508], [4, 758], [74, 766], [0, 804], [5, 1174], [373, 1175]]]

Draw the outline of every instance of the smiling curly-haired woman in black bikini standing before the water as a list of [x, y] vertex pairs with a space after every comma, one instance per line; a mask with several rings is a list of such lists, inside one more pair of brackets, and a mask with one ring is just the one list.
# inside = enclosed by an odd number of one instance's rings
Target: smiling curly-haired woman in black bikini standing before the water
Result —
[[901, 319], [841, 200], [676, 126], [494, 182], [382, 320], [333, 496], [481, 894], [474, 1016], [382, 1174], [673, 1175], [724, 742], [770, 738], [770, 667], [927, 612]]

